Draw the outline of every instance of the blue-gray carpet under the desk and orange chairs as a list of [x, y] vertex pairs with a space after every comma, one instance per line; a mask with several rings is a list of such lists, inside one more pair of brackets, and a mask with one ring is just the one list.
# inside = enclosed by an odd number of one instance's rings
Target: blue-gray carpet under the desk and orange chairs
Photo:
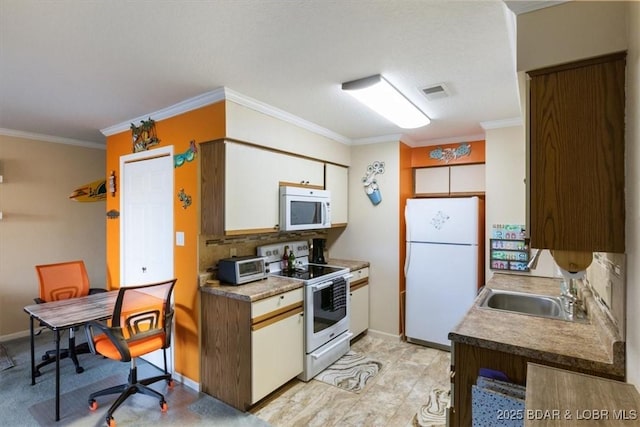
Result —
[[[36, 358], [52, 348], [52, 334], [43, 332], [36, 337]], [[115, 362], [91, 354], [79, 356], [85, 368], [76, 374], [73, 364], [65, 359], [60, 363], [61, 399], [58, 423], [55, 420], [55, 365], [44, 367], [42, 376], [31, 385], [29, 339], [21, 338], [3, 343], [15, 366], [0, 372], [0, 425], [7, 426], [105, 426], [105, 414], [116, 395], [97, 399], [98, 409], [90, 411], [88, 395], [111, 385], [126, 382], [129, 364]], [[157, 373], [148, 363], [138, 364], [140, 378]], [[156, 399], [134, 395], [114, 414], [118, 426], [184, 425], [184, 426], [251, 426], [268, 427], [260, 418], [236, 410], [211, 396], [176, 383], [171, 390], [161, 381], [153, 388], [165, 395], [169, 410], [160, 411]]]

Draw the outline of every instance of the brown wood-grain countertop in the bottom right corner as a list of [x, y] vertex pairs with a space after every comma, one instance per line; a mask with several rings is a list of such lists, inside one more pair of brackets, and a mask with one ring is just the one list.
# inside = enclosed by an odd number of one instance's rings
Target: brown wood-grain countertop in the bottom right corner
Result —
[[628, 383], [527, 365], [525, 426], [638, 425], [640, 394]]

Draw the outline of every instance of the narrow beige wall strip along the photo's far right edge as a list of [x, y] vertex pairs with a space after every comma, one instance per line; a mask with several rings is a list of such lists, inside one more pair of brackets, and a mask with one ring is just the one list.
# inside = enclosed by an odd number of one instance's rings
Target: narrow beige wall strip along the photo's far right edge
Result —
[[640, 3], [628, 3], [626, 105], [627, 380], [640, 389]]

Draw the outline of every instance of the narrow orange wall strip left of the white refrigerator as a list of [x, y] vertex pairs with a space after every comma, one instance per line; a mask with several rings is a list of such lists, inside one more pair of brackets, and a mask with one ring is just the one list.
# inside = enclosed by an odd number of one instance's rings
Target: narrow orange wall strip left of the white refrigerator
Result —
[[407, 252], [407, 245], [405, 243], [405, 230], [406, 223], [404, 220], [404, 206], [407, 204], [407, 199], [409, 199], [413, 194], [413, 169], [411, 169], [411, 155], [414, 149], [411, 149], [408, 145], [404, 144], [400, 141], [400, 242], [398, 243], [398, 254], [400, 260], [398, 265], [400, 266], [398, 271], [398, 283], [399, 283], [399, 291], [400, 291], [400, 334], [404, 336], [404, 307], [405, 307], [405, 288], [406, 283], [404, 280], [404, 259]]

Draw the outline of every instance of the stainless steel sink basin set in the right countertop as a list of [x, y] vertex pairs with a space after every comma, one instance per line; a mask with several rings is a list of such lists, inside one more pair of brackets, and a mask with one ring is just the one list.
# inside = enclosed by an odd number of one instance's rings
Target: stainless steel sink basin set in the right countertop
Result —
[[562, 300], [548, 295], [489, 289], [487, 297], [480, 304], [482, 308], [504, 310], [531, 316], [569, 320]]

